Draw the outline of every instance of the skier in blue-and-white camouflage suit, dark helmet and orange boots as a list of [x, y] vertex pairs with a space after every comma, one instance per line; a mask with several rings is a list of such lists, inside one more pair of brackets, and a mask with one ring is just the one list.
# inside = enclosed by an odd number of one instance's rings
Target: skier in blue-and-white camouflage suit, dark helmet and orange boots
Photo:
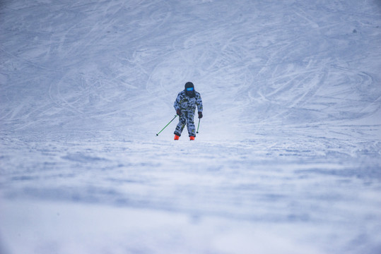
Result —
[[199, 119], [201, 119], [203, 107], [201, 95], [199, 92], [194, 90], [194, 85], [192, 82], [185, 83], [185, 88], [177, 95], [173, 107], [175, 107], [176, 114], [179, 116], [179, 123], [177, 123], [174, 132], [174, 140], [179, 140], [185, 125], [187, 125], [189, 140], [194, 140], [196, 137], [196, 128], [194, 127], [194, 113], [197, 107]]

